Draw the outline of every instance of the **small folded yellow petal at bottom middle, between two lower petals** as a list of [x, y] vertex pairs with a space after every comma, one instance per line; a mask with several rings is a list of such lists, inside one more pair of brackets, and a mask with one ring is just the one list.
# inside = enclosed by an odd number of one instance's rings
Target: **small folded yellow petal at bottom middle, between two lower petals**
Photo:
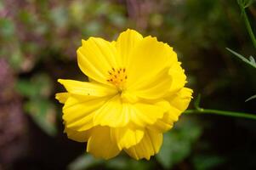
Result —
[[134, 125], [129, 124], [126, 127], [111, 128], [111, 137], [117, 142], [119, 150], [130, 148], [138, 144], [143, 138], [144, 131]]

